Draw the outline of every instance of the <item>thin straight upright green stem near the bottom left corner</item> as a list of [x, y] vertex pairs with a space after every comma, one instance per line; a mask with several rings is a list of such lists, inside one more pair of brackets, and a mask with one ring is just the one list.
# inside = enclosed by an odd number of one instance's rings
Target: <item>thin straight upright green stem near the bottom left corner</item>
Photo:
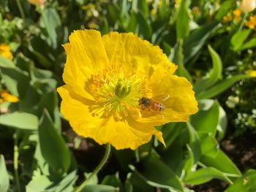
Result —
[[15, 171], [15, 183], [17, 186], [17, 191], [20, 192], [20, 180], [18, 174], [18, 158], [19, 158], [19, 150], [18, 150], [18, 131], [13, 136], [14, 139], [14, 154], [13, 154], [13, 166]]

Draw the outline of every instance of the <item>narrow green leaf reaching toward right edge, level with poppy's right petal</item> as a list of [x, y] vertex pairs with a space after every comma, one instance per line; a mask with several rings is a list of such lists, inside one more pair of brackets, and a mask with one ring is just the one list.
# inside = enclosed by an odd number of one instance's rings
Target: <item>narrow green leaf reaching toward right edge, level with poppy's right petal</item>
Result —
[[218, 82], [216, 85], [209, 88], [208, 90], [198, 93], [197, 99], [210, 99], [214, 96], [217, 96], [219, 93], [227, 90], [227, 88], [230, 88], [236, 81], [246, 78], [251, 77], [246, 74], [236, 74], [233, 77]]

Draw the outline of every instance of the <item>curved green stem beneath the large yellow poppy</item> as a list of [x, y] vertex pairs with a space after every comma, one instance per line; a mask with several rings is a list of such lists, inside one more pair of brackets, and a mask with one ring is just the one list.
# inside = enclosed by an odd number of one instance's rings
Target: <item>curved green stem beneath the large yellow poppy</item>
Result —
[[86, 180], [84, 180], [83, 183], [78, 188], [75, 189], [74, 192], [80, 192], [89, 182], [89, 180], [91, 180], [91, 177], [94, 177], [94, 175], [97, 174], [100, 169], [102, 169], [102, 166], [104, 166], [108, 160], [108, 157], [110, 155], [110, 150], [111, 150], [111, 145], [110, 143], [108, 143], [106, 145], [106, 151], [105, 151], [104, 157], [102, 158], [102, 161], [100, 161], [99, 165], [94, 169], [94, 172], [92, 172], [90, 176]]

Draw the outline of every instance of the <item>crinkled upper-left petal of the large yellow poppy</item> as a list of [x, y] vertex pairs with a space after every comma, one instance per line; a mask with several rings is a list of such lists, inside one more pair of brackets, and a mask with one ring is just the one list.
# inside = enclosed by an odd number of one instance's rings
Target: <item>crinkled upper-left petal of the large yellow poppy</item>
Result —
[[64, 45], [67, 63], [63, 80], [69, 88], [88, 99], [93, 99], [84, 86], [91, 74], [97, 73], [108, 65], [108, 56], [99, 31], [79, 30], [69, 36]]

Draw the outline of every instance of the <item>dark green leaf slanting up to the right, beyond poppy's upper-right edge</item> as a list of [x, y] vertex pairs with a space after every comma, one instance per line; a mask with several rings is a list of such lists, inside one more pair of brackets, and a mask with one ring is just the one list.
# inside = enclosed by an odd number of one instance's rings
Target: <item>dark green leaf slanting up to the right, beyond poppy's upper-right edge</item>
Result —
[[214, 31], [219, 28], [219, 22], [214, 21], [208, 25], [202, 26], [191, 34], [184, 41], [184, 64], [189, 61], [190, 58], [195, 56], [198, 51], [205, 45], [206, 40]]

